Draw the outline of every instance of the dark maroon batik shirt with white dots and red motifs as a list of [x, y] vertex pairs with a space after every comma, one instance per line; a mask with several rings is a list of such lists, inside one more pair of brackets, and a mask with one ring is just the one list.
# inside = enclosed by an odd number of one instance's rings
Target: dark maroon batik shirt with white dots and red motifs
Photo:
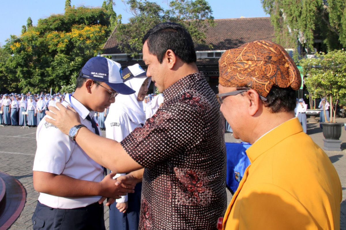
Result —
[[164, 103], [122, 147], [145, 168], [140, 229], [216, 229], [226, 209], [224, 121], [202, 72], [164, 92]]

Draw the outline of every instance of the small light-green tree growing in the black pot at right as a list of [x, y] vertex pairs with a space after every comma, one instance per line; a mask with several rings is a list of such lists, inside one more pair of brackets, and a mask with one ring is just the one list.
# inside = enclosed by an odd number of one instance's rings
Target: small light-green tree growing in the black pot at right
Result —
[[[335, 110], [339, 99], [346, 97], [346, 51], [334, 50], [317, 53], [316, 58], [299, 61], [306, 76], [304, 83], [313, 98], [328, 98], [330, 121], [335, 122]], [[326, 112], [324, 110], [325, 120]]]

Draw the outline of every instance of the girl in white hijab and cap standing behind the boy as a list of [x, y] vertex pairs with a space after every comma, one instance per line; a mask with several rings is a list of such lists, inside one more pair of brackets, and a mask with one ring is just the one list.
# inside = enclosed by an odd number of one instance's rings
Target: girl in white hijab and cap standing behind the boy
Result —
[[[142, 127], [146, 117], [143, 100], [148, 92], [150, 79], [145, 71], [135, 64], [122, 70], [124, 83], [136, 92], [130, 95], [119, 94], [109, 108], [105, 121], [106, 137], [122, 141], [137, 127]], [[124, 174], [117, 174], [117, 176]], [[115, 178], [116, 178], [115, 177]], [[117, 199], [109, 210], [109, 229], [137, 230], [140, 210], [142, 183], [136, 184], [135, 193]]]

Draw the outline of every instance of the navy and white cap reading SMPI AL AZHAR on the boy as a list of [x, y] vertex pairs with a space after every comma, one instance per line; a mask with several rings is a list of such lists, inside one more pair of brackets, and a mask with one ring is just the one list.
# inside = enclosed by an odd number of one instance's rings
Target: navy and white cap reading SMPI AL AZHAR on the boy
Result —
[[105, 57], [90, 58], [81, 69], [79, 76], [105, 82], [110, 88], [120, 94], [128, 95], [135, 93], [135, 90], [122, 81], [121, 65]]

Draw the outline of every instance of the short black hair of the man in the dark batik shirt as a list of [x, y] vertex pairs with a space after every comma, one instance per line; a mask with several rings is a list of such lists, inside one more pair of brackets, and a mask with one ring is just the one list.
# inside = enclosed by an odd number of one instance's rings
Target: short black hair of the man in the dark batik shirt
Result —
[[190, 33], [174, 22], [157, 24], [150, 29], [142, 39], [147, 41], [149, 52], [162, 63], [167, 50], [172, 50], [185, 63], [196, 62], [196, 52]]

